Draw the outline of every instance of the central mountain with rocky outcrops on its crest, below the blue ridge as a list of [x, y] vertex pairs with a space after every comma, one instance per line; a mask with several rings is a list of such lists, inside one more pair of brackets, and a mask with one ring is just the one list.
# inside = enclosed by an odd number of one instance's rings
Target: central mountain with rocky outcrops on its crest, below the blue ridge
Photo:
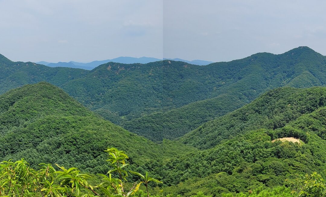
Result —
[[211, 97], [216, 93], [214, 87], [222, 83], [217, 72], [212, 67], [169, 60], [147, 64], [110, 62], [62, 88], [93, 110], [110, 110], [130, 120]]

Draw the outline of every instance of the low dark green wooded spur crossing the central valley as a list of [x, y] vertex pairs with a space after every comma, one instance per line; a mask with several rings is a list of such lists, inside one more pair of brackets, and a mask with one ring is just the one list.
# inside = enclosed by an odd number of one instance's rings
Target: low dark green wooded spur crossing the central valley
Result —
[[[215, 116], [222, 116], [244, 104], [245, 102], [239, 101], [235, 95], [222, 94], [167, 112], [157, 112], [126, 122], [117, 121], [117, 123], [123, 124], [128, 131], [153, 141], [164, 138], [175, 139], [196, 129], [201, 123], [212, 120]], [[113, 116], [110, 118], [114, 119]]]

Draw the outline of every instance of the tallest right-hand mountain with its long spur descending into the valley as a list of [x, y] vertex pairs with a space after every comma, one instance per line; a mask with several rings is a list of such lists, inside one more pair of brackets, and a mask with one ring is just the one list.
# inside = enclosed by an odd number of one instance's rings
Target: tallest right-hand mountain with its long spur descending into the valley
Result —
[[280, 55], [258, 53], [241, 60], [202, 67], [214, 70], [216, 74], [210, 75], [220, 79], [214, 91], [207, 92], [212, 98], [121, 124], [129, 131], [154, 141], [175, 139], [208, 120], [249, 103], [267, 90], [282, 86], [323, 86], [326, 82], [325, 56], [308, 47], [299, 47]]

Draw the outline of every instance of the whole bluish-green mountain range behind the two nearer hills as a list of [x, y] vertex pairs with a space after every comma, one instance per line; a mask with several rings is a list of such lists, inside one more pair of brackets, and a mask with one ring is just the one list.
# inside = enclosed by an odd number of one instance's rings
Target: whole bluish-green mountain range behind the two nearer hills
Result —
[[45, 80], [107, 120], [154, 141], [181, 137], [267, 90], [323, 86], [326, 81], [325, 56], [308, 47], [206, 66], [170, 60], [110, 62], [91, 71], [1, 60], [10, 71], [0, 76], [2, 92]]

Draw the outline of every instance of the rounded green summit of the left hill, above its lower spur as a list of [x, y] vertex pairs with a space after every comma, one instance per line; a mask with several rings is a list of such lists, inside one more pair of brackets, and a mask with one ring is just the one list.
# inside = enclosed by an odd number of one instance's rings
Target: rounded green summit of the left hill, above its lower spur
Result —
[[2, 107], [3, 112], [10, 108], [21, 107], [24, 109], [26, 116], [41, 113], [45, 115], [64, 114], [65, 116], [91, 114], [89, 110], [62, 89], [45, 81], [7, 91], [0, 95], [0, 103], [11, 104]]

